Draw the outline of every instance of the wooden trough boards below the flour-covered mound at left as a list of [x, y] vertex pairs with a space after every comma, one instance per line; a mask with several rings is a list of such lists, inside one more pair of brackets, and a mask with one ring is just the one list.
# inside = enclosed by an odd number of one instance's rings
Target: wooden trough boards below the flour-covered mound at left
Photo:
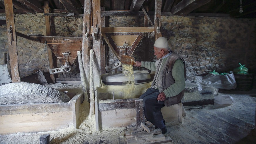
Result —
[[57, 131], [78, 128], [82, 90], [69, 102], [0, 105], [0, 134]]

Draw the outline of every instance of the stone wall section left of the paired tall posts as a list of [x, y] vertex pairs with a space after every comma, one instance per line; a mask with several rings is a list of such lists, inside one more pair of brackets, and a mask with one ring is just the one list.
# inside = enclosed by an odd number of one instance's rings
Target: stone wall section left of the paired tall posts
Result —
[[[5, 14], [0, 14], [0, 16], [5, 16]], [[51, 29], [52, 33], [54, 33], [52, 36], [81, 37], [82, 23], [83, 19], [81, 17], [51, 17]], [[25, 35], [46, 35], [45, 17], [43, 13], [15, 14], [15, 27], [17, 32]], [[4, 53], [8, 53], [8, 50], [4, 48], [7, 42], [6, 25], [0, 25], [0, 64], [4, 63]], [[48, 46], [43, 43], [17, 36], [18, 63], [21, 78], [33, 74], [38, 70], [43, 72], [49, 71], [47, 48]], [[58, 60], [55, 63], [57, 67], [63, 65]], [[77, 67], [75, 66], [75, 68]], [[71, 77], [76, 77], [76, 74], [72, 75]]]

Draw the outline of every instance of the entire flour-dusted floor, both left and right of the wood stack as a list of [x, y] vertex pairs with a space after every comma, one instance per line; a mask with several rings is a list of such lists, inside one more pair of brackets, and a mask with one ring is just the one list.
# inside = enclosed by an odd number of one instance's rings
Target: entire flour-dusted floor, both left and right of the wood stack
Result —
[[[187, 116], [176, 126], [168, 126], [165, 136], [173, 143], [255, 143], [255, 101], [256, 89], [251, 91], [225, 91], [220, 95], [230, 95], [234, 99], [231, 105], [209, 105], [201, 109], [186, 110]], [[87, 107], [87, 104], [82, 104]], [[38, 144], [43, 134], [50, 134], [52, 143], [57, 144], [125, 144], [124, 128], [110, 128], [95, 131], [87, 118], [88, 110], [82, 109], [80, 129], [65, 128], [60, 131], [41, 133], [16, 133], [0, 136], [0, 144]], [[84, 120], [85, 119], [85, 120]]]

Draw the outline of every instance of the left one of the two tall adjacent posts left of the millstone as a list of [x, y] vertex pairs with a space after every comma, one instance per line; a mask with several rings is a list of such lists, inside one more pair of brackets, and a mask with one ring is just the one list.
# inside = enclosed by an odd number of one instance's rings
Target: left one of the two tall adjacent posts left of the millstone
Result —
[[[89, 85], [89, 59], [91, 49], [91, 0], [84, 0], [82, 60], [86, 84]], [[89, 87], [87, 87], [89, 91]]]

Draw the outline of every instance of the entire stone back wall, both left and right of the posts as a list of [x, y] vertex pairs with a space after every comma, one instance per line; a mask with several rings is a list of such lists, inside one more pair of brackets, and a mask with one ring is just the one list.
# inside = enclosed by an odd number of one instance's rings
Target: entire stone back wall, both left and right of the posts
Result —
[[[15, 22], [18, 32], [46, 35], [45, 18], [41, 13], [16, 14]], [[53, 36], [82, 36], [82, 23], [82, 17], [51, 17]], [[142, 16], [109, 16], [106, 25], [142, 27], [143, 24]], [[162, 35], [168, 38], [170, 48], [184, 57], [188, 73], [205, 75], [213, 70], [228, 72], [238, 67], [238, 63], [245, 64], [249, 73], [256, 73], [256, 19], [162, 16]], [[38, 70], [49, 71], [45, 44], [21, 37], [17, 37], [17, 40], [21, 77]], [[6, 25], [0, 25], [0, 64], [3, 64], [3, 53], [7, 52], [4, 48], [6, 42]], [[145, 35], [133, 53], [135, 60], [155, 61], [154, 42], [154, 38]], [[107, 52], [107, 64], [118, 61], [111, 49]], [[58, 67], [61, 65], [58, 63]]]

